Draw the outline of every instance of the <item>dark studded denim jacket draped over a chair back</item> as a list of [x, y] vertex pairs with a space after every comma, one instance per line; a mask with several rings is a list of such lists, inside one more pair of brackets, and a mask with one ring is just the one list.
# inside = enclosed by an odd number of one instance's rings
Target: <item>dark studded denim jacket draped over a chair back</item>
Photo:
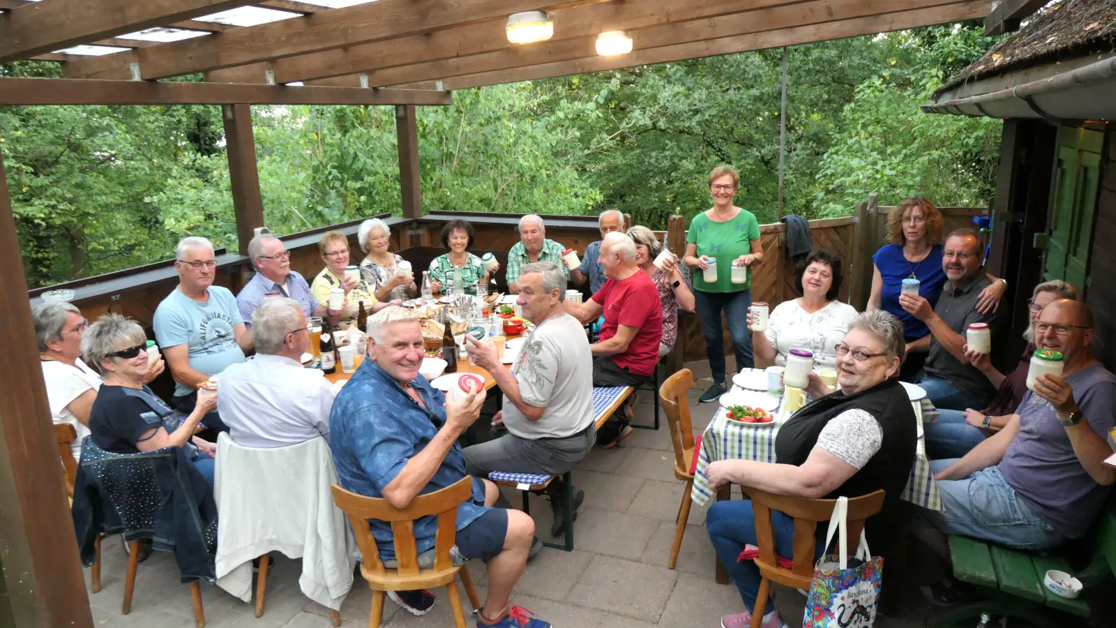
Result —
[[74, 530], [81, 564], [96, 560], [97, 534], [151, 539], [174, 552], [182, 582], [213, 582], [217, 502], [182, 447], [140, 454], [105, 451], [86, 437], [74, 480]]

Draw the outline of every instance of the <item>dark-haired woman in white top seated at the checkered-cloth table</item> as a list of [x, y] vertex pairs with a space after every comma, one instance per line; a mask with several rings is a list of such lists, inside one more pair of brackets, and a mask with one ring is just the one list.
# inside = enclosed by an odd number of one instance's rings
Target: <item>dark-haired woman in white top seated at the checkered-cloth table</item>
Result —
[[[780, 303], [768, 316], [768, 329], [752, 332], [756, 355], [785, 367], [791, 349], [808, 349], [814, 352], [815, 370], [833, 369], [837, 359], [834, 346], [856, 317], [852, 305], [837, 301], [840, 284], [840, 258], [836, 254], [817, 249], [799, 261], [795, 287], [801, 296]], [[749, 327], [751, 322], [749, 313]]]

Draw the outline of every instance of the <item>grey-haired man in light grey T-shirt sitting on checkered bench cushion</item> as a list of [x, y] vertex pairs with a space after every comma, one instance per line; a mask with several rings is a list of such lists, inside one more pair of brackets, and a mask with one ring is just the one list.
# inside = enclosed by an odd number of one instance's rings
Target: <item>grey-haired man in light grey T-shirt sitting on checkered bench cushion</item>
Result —
[[[557, 264], [539, 261], [522, 266], [519, 301], [523, 316], [535, 323], [506, 369], [491, 346], [469, 339], [469, 355], [496, 379], [503, 391], [503, 410], [492, 426], [508, 434], [466, 447], [469, 474], [488, 477], [491, 472], [560, 476], [570, 470], [596, 441], [593, 422], [593, 355], [585, 330], [562, 312], [566, 275]], [[562, 531], [561, 479], [547, 487], [555, 512], [551, 534]], [[574, 491], [574, 508], [585, 497]]]

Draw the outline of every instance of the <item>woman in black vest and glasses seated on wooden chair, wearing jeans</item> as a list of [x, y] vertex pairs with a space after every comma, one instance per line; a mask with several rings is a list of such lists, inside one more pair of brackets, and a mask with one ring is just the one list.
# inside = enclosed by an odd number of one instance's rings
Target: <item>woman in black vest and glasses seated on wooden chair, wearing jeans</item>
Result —
[[[856, 497], [883, 488], [883, 510], [865, 527], [873, 552], [886, 553], [917, 439], [914, 409], [894, 379], [904, 348], [903, 325], [894, 315], [882, 310], [858, 315], [836, 346], [840, 390], [830, 391], [817, 373], [810, 373], [807, 392], [814, 401], [779, 428], [777, 463], [714, 462], [706, 470], [710, 488], [735, 483], [815, 499]], [[778, 511], [771, 515], [776, 553], [789, 558], [793, 553], [793, 520]], [[721, 619], [721, 626], [744, 628], [751, 621], [760, 586], [756, 564], [750, 560], [737, 562], [745, 544], [757, 544], [752, 503], [714, 503], [705, 516], [705, 527], [745, 607], [744, 612]], [[825, 526], [819, 525], [818, 532], [820, 555]], [[763, 613], [763, 628], [785, 626], [772, 600], [768, 600]]]

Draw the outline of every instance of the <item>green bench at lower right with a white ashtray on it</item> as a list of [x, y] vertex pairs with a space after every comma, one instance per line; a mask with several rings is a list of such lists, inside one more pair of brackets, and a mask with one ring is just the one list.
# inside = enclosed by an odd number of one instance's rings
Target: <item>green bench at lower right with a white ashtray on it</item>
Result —
[[[1039, 628], [1065, 628], [1064, 616], [1089, 617], [1084, 599], [1056, 596], [1042, 583], [1046, 572], [1056, 569], [1072, 573], [1085, 591], [1099, 584], [1108, 573], [1116, 573], [1116, 508], [1101, 512], [1095, 531], [1093, 560], [1075, 573], [1060, 555], [1040, 555], [1013, 550], [968, 536], [950, 536], [953, 575], [988, 589], [988, 599], [951, 609], [934, 621], [933, 628], [972, 628], [982, 612], [1023, 619]], [[1048, 611], [1059, 611], [1051, 613]]]

